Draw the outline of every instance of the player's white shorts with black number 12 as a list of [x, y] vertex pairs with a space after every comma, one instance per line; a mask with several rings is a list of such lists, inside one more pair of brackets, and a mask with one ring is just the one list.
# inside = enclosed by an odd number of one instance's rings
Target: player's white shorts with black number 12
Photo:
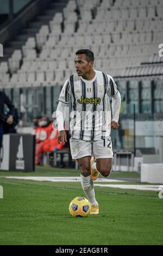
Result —
[[70, 149], [72, 159], [94, 155], [95, 160], [99, 158], [113, 158], [111, 137], [99, 139], [98, 141], [82, 141], [70, 138]]

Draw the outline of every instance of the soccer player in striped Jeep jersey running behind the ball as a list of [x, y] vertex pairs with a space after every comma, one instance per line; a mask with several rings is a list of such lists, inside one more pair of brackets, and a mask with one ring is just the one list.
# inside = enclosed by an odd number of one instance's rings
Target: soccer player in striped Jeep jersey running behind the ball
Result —
[[[72, 137], [70, 149], [72, 159], [80, 168], [83, 191], [91, 203], [91, 214], [98, 214], [93, 180], [98, 172], [103, 177], [111, 173], [112, 143], [110, 130], [118, 129], [121, 95], [110, 75], [93, 69], [94, 54], [88, 49], [76, 52], [74, 59], [76, 74], [70, 76], [62, 87], [57, 107], [58, 142], [65, 143], [65, 107], [72, 102]], [[112, 97], [112, 118], [109, 103]], [[91, 161], [95, 158], [96, 164]], [[91, 166], [94, 169], [91, 177]]]

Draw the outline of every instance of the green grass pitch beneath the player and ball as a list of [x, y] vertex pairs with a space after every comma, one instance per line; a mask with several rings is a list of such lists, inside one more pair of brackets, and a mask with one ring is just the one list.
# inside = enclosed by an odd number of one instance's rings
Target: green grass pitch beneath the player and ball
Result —
[[[36, 173], [0, 175], [78, 176], [79, 172], [39, 167]], [[112, 178], [126, 175], [112, 173]], [[127, 176], [139, 178], [137, 173]], [[158, 198], [158, 192], [95, 187], [100, 214], [71, 218], [69, 203], [74, 197], [84, 196], [79, 182], [0, 178], [0, 185], [4, 189], [0, 245], [163, 244], [163, 199]]]

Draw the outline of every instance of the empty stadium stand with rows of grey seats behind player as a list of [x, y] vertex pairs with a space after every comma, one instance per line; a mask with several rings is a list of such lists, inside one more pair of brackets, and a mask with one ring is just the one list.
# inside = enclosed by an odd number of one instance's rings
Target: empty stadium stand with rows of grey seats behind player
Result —
[[[163, 42], [162, 13], [161, 0], [51, 1], [45, 13], [4, 48], [0, 88], [54, 86], [59, 94], [58, 87], [74, 72], [74, 53], [90, 48], [95, 53], [95, 69], [112, 75], [122, 94], [121, 84], [126, 81], [127, 103], [139, 103], [141, 94], [142, 102], [150, 104], [152, 94], [146, 94], [143, 85], [139, 92], [137, 88], [141, 79], [151, 81], [150, 92], [159, 88], [157, 84], [162, 86], [163, 57], [158, 55]], [[138, 81], [136, 89], [131, 88], [132, 80]], [[163, 101], [158, 91], [154, 101], [153, 111], [157, 111]]]

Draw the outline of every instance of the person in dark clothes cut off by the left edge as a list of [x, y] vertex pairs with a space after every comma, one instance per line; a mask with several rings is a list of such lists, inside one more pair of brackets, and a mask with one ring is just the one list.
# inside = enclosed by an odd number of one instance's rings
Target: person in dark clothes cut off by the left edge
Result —
[[[4, 104], [8, 106], [9, 113], [4, 113]], [[14, 121], [15, 108], [9, 97], [0, 91], [0, 150], [2, 148], [3, 134], [5, 133], [5, 125], [12, 125]]]

